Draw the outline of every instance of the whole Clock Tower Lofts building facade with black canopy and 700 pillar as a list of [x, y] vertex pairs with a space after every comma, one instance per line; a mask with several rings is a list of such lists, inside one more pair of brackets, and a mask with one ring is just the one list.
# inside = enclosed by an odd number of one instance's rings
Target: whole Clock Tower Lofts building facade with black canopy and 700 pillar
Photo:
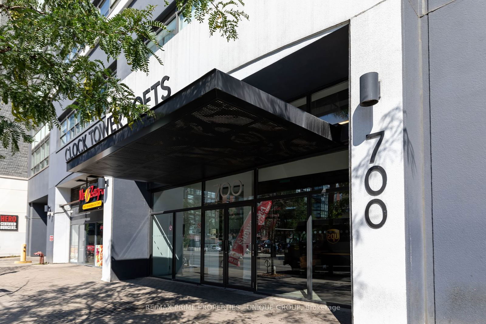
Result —
[[[106, 1], [107, 17], [150, 3]], [[82, 127], [57, 107], [61, 128], [31, 148], [48, 154], [29, 167], [29, 251], [104, 281], [350, 307], [355, 323], [480, 322], [485, 7], [248, 1], [226, 42], [157, 6], [163, 66], [87, 53], [156, 117]]]

